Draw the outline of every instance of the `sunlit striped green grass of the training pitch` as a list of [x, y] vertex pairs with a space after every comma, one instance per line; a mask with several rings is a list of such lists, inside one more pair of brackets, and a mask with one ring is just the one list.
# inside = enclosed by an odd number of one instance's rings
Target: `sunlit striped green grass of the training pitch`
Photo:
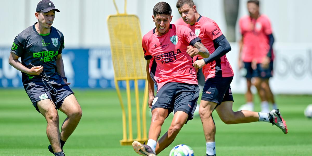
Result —
[[[83, 115], [77, 129], [64, 146], [66, 156], [137, 155], [131, 146], [119, 144], [119, 140], [122, 139], [122, 120], [116, 91], [73, 90]], [[234, 95], [234, 100], [234, 110], [245, 103], [243, 95]], [[256, 111], [259, 111], [257, 101], [259, 100], [256, 98]], [[276, 101], [287, 121], [289, 133], [286, 135], [270, 123], [226, 125], [214, 112], [217, 155], [310, 155], [312, 119], [305, 118], [303, 110], [312, 103], [312, 95], [277, 95]], [[65, 115], [60, 112], [60, 121], [64, 119]], [[167, 131], [171, 119], [171, 115], [166, 119], [162, 134]], [[149, 125], [150, 115], [147, 115], [147, 123]], [[52, 155], [47, 150], [49, 144], [46, 137], [46, 120], [34, 109], [25, 91], [0, 89], [0, 155]], [[171, 148], [177, 144], [188, 144], [194, 149], [196, 156], [205, 155], [205, 139], [198, 116], [189, 121], [173, 144], [159, 155], [169, 155]]]

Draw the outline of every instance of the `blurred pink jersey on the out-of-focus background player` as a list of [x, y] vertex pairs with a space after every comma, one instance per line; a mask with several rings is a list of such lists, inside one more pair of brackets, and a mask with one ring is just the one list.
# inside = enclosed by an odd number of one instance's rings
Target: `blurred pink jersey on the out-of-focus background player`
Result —
[[[257, 19], [244, 16], [239, 20], [239, 26], [243, 36], [242, 60], [261, 63], [270, 50], [268, 35], [272, 34], [272, 28], [269, 18], [266, 15]], [[273, 59], [273, 51], [271, 53]]]

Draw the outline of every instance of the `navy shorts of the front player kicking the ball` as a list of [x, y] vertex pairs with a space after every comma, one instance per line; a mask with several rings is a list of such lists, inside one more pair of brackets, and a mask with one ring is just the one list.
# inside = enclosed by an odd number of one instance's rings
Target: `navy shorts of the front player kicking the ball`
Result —
[[168, 115], [172, 111], [183, 111], [188, 114], [188, 120], [193, 119], [199, 97], [198, 85], [187, 83], [169, 82], [163, 85], [154, 98], [152, 111], [155, 108], [168, 109]]

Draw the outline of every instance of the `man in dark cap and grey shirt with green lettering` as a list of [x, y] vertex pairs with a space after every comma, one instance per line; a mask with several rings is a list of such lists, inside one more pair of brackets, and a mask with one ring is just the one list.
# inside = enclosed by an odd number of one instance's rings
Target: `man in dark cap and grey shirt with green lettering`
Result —
[[[9, 64], [22, 71], [27, 95], [36, 110], [46, 118], [46, 134], [51, 144], [49, 151], [63, 156], [63, 145], [76, 129], [82, 111], [65, 77], [62, 60], [64, 36], [51, 26], [55, 11], [60, 12], [50, 0], [37, 4], [35, 17], [38, 22], [15, 37]], [[67, 115], [61, 132], [56, 109]]]

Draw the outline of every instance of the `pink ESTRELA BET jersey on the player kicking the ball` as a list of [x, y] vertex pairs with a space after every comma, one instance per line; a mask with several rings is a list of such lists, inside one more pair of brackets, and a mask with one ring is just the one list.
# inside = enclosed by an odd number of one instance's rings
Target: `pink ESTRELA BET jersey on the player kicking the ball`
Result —
[[144, 58], [151, 59], [149, 71], [158, 90], [168, 82], [197, 84], [193, 59], [186, 52], [197, 41], [200, 39], [188, 27], [174, 24], [163, 36], [157, 36], [155, 28], [144, 35]]

